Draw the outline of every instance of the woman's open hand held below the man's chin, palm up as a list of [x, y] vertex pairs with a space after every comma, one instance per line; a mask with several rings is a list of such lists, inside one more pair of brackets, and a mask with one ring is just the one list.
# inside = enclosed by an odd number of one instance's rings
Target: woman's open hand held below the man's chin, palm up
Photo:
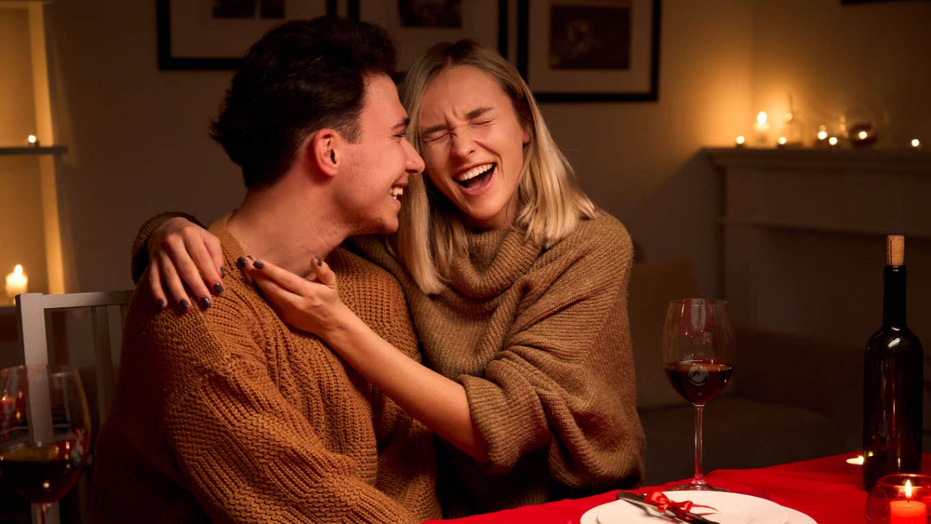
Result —
[[311, 280], [265, 260], [248, 264], [246, 270], [281, 320], [327, 340], [347, 315], [355, 313], [340, 298], [330, 265], [315, 257], [311, 266]]

